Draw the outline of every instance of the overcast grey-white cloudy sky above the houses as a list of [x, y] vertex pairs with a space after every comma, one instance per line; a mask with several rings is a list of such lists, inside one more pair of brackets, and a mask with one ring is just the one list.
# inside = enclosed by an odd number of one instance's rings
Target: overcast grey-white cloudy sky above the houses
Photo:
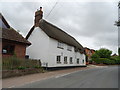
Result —
[[0, 12], [25, 37], [34, 25], [35, 11], [42, 6], [43, 19], [73, 36], [83, 47], [107, 48], [114, 54], [118, 48], [118, 27], [114, 25], [117, 5], [118, 0], [1, 0]]

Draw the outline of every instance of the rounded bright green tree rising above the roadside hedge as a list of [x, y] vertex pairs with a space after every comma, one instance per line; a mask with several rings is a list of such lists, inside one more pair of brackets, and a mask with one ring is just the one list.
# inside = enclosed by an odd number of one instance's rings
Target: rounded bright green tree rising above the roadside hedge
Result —
[[106, 48], [101, 48], [101, 49], [96, 51], [96, 54], [100, 58], [110, 58], [112, 51], [110, 51], [109, 49], [106, 49]]

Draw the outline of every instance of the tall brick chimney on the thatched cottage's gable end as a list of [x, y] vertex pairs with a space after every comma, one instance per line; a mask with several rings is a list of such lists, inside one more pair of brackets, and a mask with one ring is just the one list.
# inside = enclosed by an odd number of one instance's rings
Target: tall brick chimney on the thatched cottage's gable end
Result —
[[34, 25], [35, 25], [36, 27], [39, 26], [39, 21], [40, 21], [40, 19], [42, 19], [42, 17], [43, 17], [43, 11], [42, 11], [42, 7], [40, 7], [40, 10], [37, 10], [37, 11], [35, 12]]

